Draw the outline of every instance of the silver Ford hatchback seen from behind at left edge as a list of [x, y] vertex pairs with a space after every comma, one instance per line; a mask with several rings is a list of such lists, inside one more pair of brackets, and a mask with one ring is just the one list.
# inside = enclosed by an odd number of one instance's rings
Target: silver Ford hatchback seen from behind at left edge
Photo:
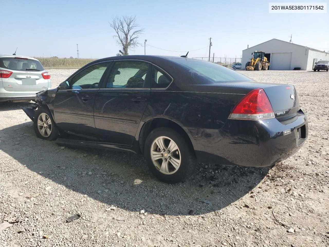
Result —
[[0, 102], [30, 101], [48, 89], [50, 74], [37, 59], [0, 54]]

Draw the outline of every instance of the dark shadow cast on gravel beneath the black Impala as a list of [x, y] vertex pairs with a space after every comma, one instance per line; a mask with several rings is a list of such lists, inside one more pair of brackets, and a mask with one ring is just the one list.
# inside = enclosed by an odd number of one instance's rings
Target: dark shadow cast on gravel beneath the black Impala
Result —
[[[167, 215], [215, 212], [251, 190], [259, 195], [255, 187], [268, 173], [265, 168], [199, 164], [185, 183], [165, 184], [150, 174], [141, 155], [60, 147], [38, 139], [31, 121], [0, 130], [0, 140], [2, 151], [33, 172], [26, 177], [28, 184], [39, 183], [40, 191], [33, 193], [44, 193], [49, 185], [52, 189], [62, 185], [80, 193], [70, 194], [75, 200], [87, 195], [129, 211], [145, 209]], [[24, 186], [18, 185], [22, 189]], [[63, 193], [63, 187], [56, 193]], [[256, 198], [251, 196], [250, 200]]]

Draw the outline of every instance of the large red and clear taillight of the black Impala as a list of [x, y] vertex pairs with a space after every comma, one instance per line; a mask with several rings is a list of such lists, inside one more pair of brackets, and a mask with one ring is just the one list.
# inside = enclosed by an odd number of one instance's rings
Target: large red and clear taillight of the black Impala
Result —
[[246, 94], [234, 107], [230, 119], [260, 120], [274, 118], [271, 103], [264, 90], [257, 88]]

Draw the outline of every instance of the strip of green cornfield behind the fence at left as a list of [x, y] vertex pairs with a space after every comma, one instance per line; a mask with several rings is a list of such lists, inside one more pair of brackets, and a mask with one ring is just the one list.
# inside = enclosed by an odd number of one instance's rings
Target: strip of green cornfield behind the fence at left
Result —
[[81, 68], [96, 60], [92, 58], [35, 57], [45, 69]]

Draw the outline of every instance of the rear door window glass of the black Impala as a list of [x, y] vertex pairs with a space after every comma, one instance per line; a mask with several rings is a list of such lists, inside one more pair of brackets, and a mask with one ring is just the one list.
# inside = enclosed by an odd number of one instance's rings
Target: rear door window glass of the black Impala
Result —
[[148, 67], [148, 63], [140, 61], [117, 61], [105, 87], [142, 88]]

